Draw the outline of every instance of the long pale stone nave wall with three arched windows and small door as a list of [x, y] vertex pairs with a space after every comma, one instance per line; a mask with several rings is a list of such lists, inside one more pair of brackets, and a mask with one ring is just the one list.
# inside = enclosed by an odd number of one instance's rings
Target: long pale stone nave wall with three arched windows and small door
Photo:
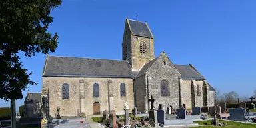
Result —
[[[100, 105], [100, 112], [108, 110], [108, 87], [109, 93], [113, 94], [113, 101], [116, 112], [123, 112], [125, 101], [128, 102], [129, 107], [134, 107], [133, 96], [133, 79], [125, 78], [84, 78], [84, 77], [43, 77], [43, 87], [49, 88], [49, 115], [53, 118], [57, 115], [57, 107], [60, 107], [61, 116], [77, 116], [79, 111], [85, 108], [86, 115], [93, 115], [93, 103], [98, 102]], [[84, 104], [81, 105], [79, 89], [81, 88], [81, 81], [84, 82]], [[62, 85], [69, 84], [69, 99], [62, 99]], [[99, 97], [93, 97], [93, 84], [99, 84]], [[120, 84], [125, 83], [126, 96], [120, 95]], [[131, 111], [131, 110], [130, 110]]]

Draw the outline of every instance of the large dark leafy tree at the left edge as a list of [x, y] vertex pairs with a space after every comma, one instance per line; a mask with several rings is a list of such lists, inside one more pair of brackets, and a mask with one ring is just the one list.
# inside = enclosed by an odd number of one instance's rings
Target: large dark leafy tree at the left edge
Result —
[[47, 31], [53, 22], [50, 13], [61, 0], [0, 1], [0, 98], [22, 99], [22, 90], [31, 81], [17, 53], [25, 57], [54, 52], [58, 35]]

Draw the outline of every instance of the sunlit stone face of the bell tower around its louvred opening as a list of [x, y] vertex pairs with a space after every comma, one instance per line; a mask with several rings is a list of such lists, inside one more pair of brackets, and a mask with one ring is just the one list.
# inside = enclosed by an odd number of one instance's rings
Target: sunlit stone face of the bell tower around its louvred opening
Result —
[[[145, 43], [145, 53], [140, 53], [140, 44]], [[133, 71], [139, 71], [141, 67], [155, 59], [154, 53], [154, 39], [149, 39], [146, 37], [131, 36], [131, 67]]]

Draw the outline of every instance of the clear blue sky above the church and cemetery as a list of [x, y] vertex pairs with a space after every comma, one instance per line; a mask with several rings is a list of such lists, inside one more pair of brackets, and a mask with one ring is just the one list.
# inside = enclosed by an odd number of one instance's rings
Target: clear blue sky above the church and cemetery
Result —
[[[155, 36], [155, 56], [165, 51], [175, 64], [194, 65], [221, 93], [251, 96], [255, 85], [256, 1], [236, 0], [63, 0], [49, 31], [59, 46], [49, 55], [121, 59], [125, 18], [147, 21]], [[21, 61], [40, 92], [46, 55]], [[25, 94], [27, 91], [23, 92]], [[24, 99], [17, 100], [17, 107]], [[0, 101], [0, 107], [9, 103]]]

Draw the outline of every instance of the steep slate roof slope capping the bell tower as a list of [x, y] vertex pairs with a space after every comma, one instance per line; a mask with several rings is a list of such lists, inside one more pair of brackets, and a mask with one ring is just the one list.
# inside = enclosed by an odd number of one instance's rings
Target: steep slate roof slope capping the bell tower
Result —
[[129, 27], [131, 28], [133, 35], [153, 38], [153, 34], [149, 29], [149, 27], [147, 26], [147, 23], [134, 21], [132, 19], [128, 19], [128, 21], [129, 21]]

